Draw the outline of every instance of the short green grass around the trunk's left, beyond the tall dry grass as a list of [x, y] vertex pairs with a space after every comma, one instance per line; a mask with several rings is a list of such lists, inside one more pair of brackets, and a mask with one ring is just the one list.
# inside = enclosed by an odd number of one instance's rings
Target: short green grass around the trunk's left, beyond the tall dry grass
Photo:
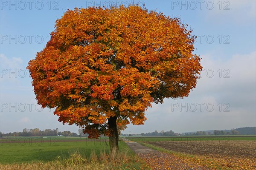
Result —
[[[18, 137], [17, 140], [19, 140]], [[72, 150], [79, 150], [85, 158], [90, 157], [92, 151], [95, 151], [96, 155], [99, 155], [102, 150], [109, 153], [109, 145], [106, 146], [105, 140], [86, 142], [60, 142], [60, 140], [65, 139], [60, 138], [58, 141], [50, 142], [38, 140], [36, 143], [18, 143], [12, 140], [10, 143], [0, 143], [0, 164], [53, 161], [58, 156], [70, 156]], [[120, 150], [128, 149], [124, 142], [119, 142], [119, 148]]]

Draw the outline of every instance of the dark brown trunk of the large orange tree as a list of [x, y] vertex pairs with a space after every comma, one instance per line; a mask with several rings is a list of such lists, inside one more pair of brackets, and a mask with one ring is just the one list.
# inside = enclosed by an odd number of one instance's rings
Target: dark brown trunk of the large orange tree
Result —
[[112, 153], [113, 150], [119, 150], [118, 147], [118, 132], [116, 127], [116, 116], [110, 117], [108, 119], [108, 129], [110, 131], [109, 134], [109, 146], [110, 146], [110, 152]]

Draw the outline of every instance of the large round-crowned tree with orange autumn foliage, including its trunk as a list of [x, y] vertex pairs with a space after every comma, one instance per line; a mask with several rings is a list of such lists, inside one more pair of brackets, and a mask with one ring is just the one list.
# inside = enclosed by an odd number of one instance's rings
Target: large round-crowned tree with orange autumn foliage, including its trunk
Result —
[[118, 129], [143, 125], [151, 103], [183, 98], [202, 69], [179, 18], [131, 5], [67, 10], [29, 61], [38, 104], [118, 149]]

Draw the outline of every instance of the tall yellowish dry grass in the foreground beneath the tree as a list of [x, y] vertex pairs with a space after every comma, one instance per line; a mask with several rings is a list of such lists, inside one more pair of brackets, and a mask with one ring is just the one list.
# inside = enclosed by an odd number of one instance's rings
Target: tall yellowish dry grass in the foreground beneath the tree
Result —
[[[73, 150], [69, 158], [59, 156], [56, 161], [49, 162], [0, 164], [0, 170], [121, 170], [126, 169], [125, 164], [141, 162], [137, 156], [128, 154], [128, 150], [112, 152], [111, 154], [107, 154], [103, 150], [99, 156], [95, 151], [92, 151], [88, 159], [82, 155], [79, 150]], [[135, 166], [131, 169], [137, 168]], [[138, 169], [143, 169], [143, 167], [139, 166]]]

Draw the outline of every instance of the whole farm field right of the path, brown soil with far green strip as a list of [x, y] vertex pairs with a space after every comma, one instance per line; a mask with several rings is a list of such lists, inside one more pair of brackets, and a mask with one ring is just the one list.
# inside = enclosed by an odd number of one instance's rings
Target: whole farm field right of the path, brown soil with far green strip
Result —
[[[187, 163], [194, 162], [209, 167], [209, 169], [256, 169], [255, 136], [145, 137], [140, 139], [131, 138], [131, 140], [160, 150], [164, 152], [163, 154], [175, 155], [186, 160]], [[144, 156], [144, 161], [149, 164], [154, 162], [155, 159], [155, 156], [151, 153]]]

